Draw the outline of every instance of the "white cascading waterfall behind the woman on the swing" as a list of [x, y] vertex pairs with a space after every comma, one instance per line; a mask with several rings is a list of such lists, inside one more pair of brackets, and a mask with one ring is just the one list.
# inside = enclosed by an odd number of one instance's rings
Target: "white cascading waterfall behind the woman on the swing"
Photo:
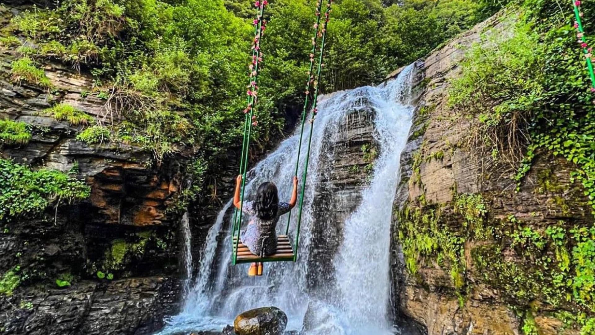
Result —
[[[259, 306], [277, 306], [287, 314], [287, 328], [303, 328], [305, 334], [394, 333], [389, 312], [390, 221], [400, 153], [411, 127], [412, 68], [409, 66], [397, 79], [377, 87], [364, 86], [321, 97], [312, 134], [297, 262], [265, 263], [263, 277], [248, 277], [247, 266], [231, 266], [230, 200], [209, 230], [198, 277], [183, 311], [168, 320], [161, 334], [221, 330], [240, 312]], [[310, 259], [311, 228], [317, 218], [317, 213], [312, 212], [312, 201], [324, 173], [321, 162], [328, 158], [323, 143], [337, 139], [347, 114], [364, 110], [374, 111], [380, 156], [375, 160], [372, 180], [362, 192], [361, 203], [343, 222], [343, 241], [333, 260], [334, 278], [324, 289], [313, 293], [307, 280], [319, 275], [321, 269], [315, 266], [316, 259]], [[289, 200], [298, 141], [296, 132], [250, 170], [248, 199], [262, 182], [273, 181], [281, 201]], [[300, 162], [305, 162], [305, 157]], [[317, 208], [320, 210], [320, 206]], [[295, 237], [296, 217], [292, 215], [290, 240]], [[281, 217], [278, 233], [284, 234], [286, 222], [286, 216]]]

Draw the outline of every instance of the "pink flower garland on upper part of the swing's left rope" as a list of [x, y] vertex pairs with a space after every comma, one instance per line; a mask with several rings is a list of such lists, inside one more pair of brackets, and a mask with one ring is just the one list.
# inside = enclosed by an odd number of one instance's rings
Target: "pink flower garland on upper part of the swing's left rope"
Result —
[[264, 20], [264, 8], [268, 5], [267, 0], [257, 0], [254, 3], [254, 7], [258, 8], [258, 16], [252, 23], [255, 26], [255, 36], [252, 40], [252, 63], [248, 66], [250, 69], [250, 83], [246, 88], [246, 95], [248, 95], [248, 106], [244, 110], [244, 114], [252, 114], [251, 122], [252, 126], [258, 125], [258, 120], [256, 120], [256, 116], [253, 114], [256, 106], [256, 100], [258, 99], [258, 70], [262, 62], [262, 57], [264, 56], [261, 51], [260, 42], [262, 36], [264, 35], [264, 31], [267, 28], [267, 21]]

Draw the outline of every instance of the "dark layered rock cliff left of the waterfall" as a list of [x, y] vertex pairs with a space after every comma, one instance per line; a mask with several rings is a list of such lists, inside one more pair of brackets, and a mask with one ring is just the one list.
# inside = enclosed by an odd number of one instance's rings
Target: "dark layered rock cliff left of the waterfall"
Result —
[[[0, 23], [18, 10], [2, 8]], [[107, 100], [89, 94], [92, 78], [46, 63], [53, 89], [15, 82], [10, 69], [16, 58], [0, 46], [0, 118], [26, 123], [33, 137], [26, 145], [0, 147], [0, 157], [34, 169], [75, 171], [91, 196], [78, 204], [58, 201], [3, 225], [0, 280], [14, 279], [17, 286], [0, 294], [0, 332], [151, 333], [180, 300], [179, 218], [167, 207], [180, 191], [184, 157], [157, 164], [140, 148], [77, 141], [82, 126], [43, 110], [62, 103], [98, 120], [111, 117]]]

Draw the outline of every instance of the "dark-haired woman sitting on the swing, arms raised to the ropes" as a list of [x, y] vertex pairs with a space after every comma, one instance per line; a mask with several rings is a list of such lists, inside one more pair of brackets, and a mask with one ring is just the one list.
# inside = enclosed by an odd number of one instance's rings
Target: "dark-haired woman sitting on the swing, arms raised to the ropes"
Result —
[[[240, 200], [240, 188], [242, 186], [242, 175], [236, 178], [236, 194], [233, 204], [237, 209], [252, 216], [248, 228], [242, 235], [242, 243], [256, 256], [270, 256], [277, 251], [277, 233], [275, 228], [279, 216], [289, 212], [296, 206], [297, 201], [297, 177], [293, 177], [292, 199], [289, 203], [279, 202], [277, 187], [272, 182], [264, 182], [256, 191], [256, 198], [247, 201], [242, 206]], [[262, 262], [250, 264], [249, 276], [262, 275]]]

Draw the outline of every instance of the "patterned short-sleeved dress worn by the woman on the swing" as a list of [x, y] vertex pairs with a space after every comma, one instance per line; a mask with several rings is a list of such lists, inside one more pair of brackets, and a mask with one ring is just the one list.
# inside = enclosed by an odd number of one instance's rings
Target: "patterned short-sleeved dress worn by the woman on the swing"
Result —
[[277, 222], [279, 217], [291, 210], [288, 203], [279, 203], [277, 215], [273, 219], [263, 220], [256, 216], [253, 201], [244, 204], [243, 212], [252, 216], [252, 221], [242, 235], [242, 243], [256, 256], [270, 256], [277, 251]]

